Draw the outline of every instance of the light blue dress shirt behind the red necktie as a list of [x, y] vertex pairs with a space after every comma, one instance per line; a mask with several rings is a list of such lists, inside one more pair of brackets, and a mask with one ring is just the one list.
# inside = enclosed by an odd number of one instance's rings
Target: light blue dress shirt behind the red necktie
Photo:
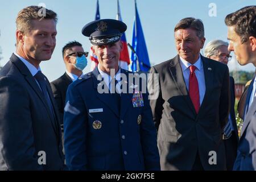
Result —
[[[180, 57], [179, 62], [183, 72], [185, 84], [189, 91], [189, 75], [190, 75], [189, 66], [191, 66], [192, 64], [188, 63], [188, 61], [184, 60], [182, 57]], [[199, 55], [199, 59], [193, 65], [196, 67], [195, 74], [196, 74], [196, 78], [199, 86], [199, 98], [200, 98], [200, 106], [201, 106], [204, 100], [204, 94], [205, 94], [205, 80], [204, 80], [204, 67], [203, 67], [203, 63], [200, 55]]]

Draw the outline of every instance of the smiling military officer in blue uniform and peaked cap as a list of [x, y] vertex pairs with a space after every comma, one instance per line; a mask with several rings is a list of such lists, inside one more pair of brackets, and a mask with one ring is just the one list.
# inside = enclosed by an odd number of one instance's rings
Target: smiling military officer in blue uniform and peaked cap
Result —
[[126, 24], [100, 19], [82, 28], [99, 64], [73, 82], [64, 109], [70, 170], [159, 170], [156, 129], [147, 93], [118, 66]]

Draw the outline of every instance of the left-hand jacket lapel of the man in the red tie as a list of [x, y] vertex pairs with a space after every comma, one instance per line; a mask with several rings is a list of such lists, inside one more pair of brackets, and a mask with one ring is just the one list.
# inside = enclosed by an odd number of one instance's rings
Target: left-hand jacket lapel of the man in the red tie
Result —
[[[184, 98], [185, 102], [187, 102], [190, 109], [193, 111], [193, 114], [196, 114], [196, 110], [192, 104], [190, 97], [189, 97], [187, 86], [184, 81], [183, 71], [182, 71], [180, 63], [179, 63], [178, 55], [176, 57], [174, 57], [174, 59], [171, 59], [169, 70], [170, 70], [172, 79], [174, 80], [175, 85], [176, 85], [177, 89], [179, 90], [180, 94], [182, 96], [184, 96], [183, 98]], [[185, 97], [185, 96], [187, 96], [187, 97]]]

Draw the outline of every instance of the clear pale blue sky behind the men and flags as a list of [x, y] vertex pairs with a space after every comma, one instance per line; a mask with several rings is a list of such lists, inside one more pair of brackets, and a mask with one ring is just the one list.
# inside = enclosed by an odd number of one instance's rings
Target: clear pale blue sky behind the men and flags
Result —
[[[63, 75], [65, 65], [61, 49], [70, 41], [80, 42], [85, 51], [89, 51], [89, 39], [81, 34], [82, 27], [94, 20], [97, 0], [8, 0], [0, 1], [0, 47], [3, 66], [15, 52], [15, 19], [19, 10], [26, 6], [44, 3], [47, 9], [58, 15], [56, 47], [51, 60], [42, 61], [40, 68], [49, 81]], [[203, 20], [205, 28], [205, 46], [210, 40], [226, 39], [227, 27], [225, 16], [241, 9], [255, 5], [255, 0], [137, 0], [144, 38], [151, 65], [162, 63], [177, 55], [174, 43], [174, 27], [180, 19], [195, 17]], [[115, 19], [117, 0], [99, 0], [101, 19]], [[127, 24], [125, 32], [127, 43], [131, 43], [134, 22], [134, 0], [119, 0], [123, 22]], [[215, 11], [216, 10], [216, 11]], [[130, 51], [130, 50], [129, 50]], [[130, 53], [130, 52], [129, 52]], [[233, 56], [234, 58], [234, 56]], [[240, 66], [235, 59], [229, 61], [229, 69], [254, 71], [252, 64]], [[90, 60], [84, 73], [90, 71]]]

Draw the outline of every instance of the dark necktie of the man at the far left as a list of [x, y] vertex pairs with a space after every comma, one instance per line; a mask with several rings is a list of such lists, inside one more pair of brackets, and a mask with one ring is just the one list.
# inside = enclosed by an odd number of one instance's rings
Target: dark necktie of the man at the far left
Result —
[[41, 71], [38, 71], [34, 77], [36, 78], [36, 81], [38, 81], [38, 84], [40, 85], [40, 88], [44, 95], [44, 98], [47, 101], [48, 108], [51, 111], [52, 118], [55, 118], [55, 115], [53, 112], [53, 107], [52, 107], [52, 102], [51, 102], [51, 100], [49, 98], [49, 94], [47, 92], [45, 76], [43, 75], [43, 73]]

